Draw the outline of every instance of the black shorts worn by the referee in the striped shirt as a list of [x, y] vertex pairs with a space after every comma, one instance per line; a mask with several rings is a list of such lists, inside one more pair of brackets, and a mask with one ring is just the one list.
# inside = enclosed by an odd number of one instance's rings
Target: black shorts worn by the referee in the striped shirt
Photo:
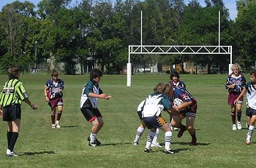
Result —
[[3, 108], [3, 121], [14, 121], [21, 119], [21, 108], [19, 104], [7, 105]]

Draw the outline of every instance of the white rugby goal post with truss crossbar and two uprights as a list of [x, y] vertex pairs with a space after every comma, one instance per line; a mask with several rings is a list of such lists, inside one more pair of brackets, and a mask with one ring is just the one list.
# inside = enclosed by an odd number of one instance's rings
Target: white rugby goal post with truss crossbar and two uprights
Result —
[[132, 63], [131, 55], [230, 55], [229, 73], [232, 65], [232, 46], [220, 45], [220, 12], [219, 12], [219, 45], [218, 46], [179, 46], [179, 45], [143, 45], [142, 44], [142, 11], [140, 23], [140, 45], [129, 45], [129, 56], [127, 63], [127, 87], [132, 86]]

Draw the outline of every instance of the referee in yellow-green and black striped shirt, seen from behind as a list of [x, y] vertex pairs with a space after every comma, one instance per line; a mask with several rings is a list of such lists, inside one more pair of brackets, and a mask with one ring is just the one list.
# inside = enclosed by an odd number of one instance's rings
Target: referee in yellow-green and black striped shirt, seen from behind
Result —
[[22, 102], [25, 102], [30, 105], [33, 110], [36, 110], [37, 106], [34, 105], [34, 103], [31, 103], [22, 81], [19, 80], [19, 68], [17, 66], [10, 66], [7, 73], [9, 80], [5, 82], [0, 93], [0, 116], [3, 118], [3, 121], [7, 121], [8, 123], [8, 148], [6, 155], [17, 156], [13, 151], [13, 148], [18, 139], [18, 132], [20, 129], [20, 105]]

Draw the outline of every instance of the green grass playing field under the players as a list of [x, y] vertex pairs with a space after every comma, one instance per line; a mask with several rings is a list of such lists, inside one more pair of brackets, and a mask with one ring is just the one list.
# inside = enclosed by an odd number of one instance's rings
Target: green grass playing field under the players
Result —
[[[50, 108], [44, 100], [44, 84], [50, 75], [23, 75], [29, 97], [38, 105], [32, 111], [22, 105], [22, 119], [15, 151], [18, 157], [7, 158], [7, 123], [0, 122], [0, 167], [255, 167], [256, 135], [252, 145], [245, 145], [246, 105], [243, 106], [243, 129], [233, 131], [227, 91], [224, 87], [227, 75], [181, 75], [187, 89], [197, 99], [195, 121], [198, 145], [190, 146], [190, 135], [181, 138], [173, 132], [171, 148], [174, 155], [165, 155], [164, 148], [153, 148], [153, 153], [144, 153], [146, 135], [140, 145], [132, 142], [140, 124], [136, 109], [141, 100], [153, 91], [158, 82], [167, 82], [167, 74], [134, 75], [132, 87], [127, 87], [127, 76], [103, 76], [100, 86], [103, 92], [113, 95], [111, 100], [99, 100], [105, 125], [97, 135], [102, 146], [93, 148], [86, 137], [91, 125], [85, 121], [80, 109], [80, 94], [88, 75], [64, 76], [64, 112], [61, 129], [51, 129]], [[249, 75], [246, 74], [249, 81]], [[4, 84], [7, 76], [0, 76]], [[167, 113], [163, 112], [165, 119]], [[164, 133], [159, 134], [159, 143], [164, 143]]]

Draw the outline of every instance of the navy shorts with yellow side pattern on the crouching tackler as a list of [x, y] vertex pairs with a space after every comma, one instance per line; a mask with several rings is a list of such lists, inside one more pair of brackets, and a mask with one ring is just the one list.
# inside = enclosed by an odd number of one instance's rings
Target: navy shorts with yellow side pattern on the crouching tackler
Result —
[[163, 127], [167, 123], [162, 116], [148, 116], [142, 120], [148, 129]]

